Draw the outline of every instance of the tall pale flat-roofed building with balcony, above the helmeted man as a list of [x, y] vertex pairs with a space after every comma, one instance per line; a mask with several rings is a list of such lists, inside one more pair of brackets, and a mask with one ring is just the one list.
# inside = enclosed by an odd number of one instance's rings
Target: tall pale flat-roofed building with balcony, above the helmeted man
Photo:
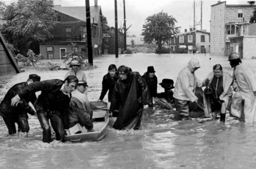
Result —
[[256, 24], [249, 24], [253, 10], [251, 5], [226, 5], [225, 1], [211, 5], [211, 54], [256, 55]]

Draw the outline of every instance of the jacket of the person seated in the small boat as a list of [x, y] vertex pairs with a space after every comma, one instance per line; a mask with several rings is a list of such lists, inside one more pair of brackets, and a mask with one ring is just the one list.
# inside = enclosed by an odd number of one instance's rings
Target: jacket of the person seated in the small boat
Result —
[[90, 115], [87, 113], [85, 104], [75, 97], [71, 98], [69, 103], [69, 128], [79, 123], [81, 126], [85, 126], [87, 130], [91, 130], [94, 125], [90, 119]]

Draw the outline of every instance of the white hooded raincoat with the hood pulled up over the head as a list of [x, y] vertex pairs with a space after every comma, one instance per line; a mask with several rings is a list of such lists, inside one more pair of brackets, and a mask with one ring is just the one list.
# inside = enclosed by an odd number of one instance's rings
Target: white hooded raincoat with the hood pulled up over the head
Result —
[[197, 101], [198, 98], [194, 95], [196, 87], [202, 87], [202, 81], [196, 78], [193, 72], [194, 68], [200, 68], [199, 61], [192, 58], [188, 62], [188, 66], [183, 68], [176, 80], [173, 97], [178, 100]]

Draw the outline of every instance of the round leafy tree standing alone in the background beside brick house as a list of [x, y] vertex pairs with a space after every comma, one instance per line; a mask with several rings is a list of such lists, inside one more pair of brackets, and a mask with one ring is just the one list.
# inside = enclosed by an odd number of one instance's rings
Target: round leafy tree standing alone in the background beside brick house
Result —
[[179, 28], [176, 27], [176, 19], [173, 16], [168, 16], [167, 13], [161, 11], [153, 14], [146, 19], [146, 24], [143, 25], [142, 36], [146, 43], [156, 42], [158, 51], [161, 53], [161, 48], [164, 43], [168, 43], [172, 35], [179, 33]]

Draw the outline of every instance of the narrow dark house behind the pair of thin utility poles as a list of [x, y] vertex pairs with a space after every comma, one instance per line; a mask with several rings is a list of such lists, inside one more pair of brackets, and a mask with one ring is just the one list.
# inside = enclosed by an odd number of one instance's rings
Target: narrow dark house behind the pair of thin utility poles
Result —
[[[115, 54], [115, 28], [110, 28], [110, 34], [107, 36], [109, 48], [104, 49], [104, 54]], [[124, 34], [118, 30], [118, 53], [121, 54], [124, 49]]]

